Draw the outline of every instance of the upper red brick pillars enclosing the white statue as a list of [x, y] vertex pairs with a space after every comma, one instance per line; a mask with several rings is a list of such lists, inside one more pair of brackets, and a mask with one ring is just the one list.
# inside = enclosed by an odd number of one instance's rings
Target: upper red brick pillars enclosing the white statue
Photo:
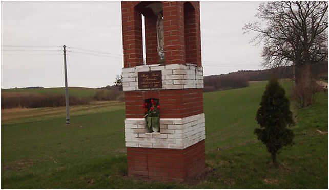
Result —
[[[141, 12], [143, 6], [150, 2], [140, 1], [122, 1], [122, 37], [124, 44], [124, 67], [133, 67], [142, 65], [142, 32], [141, 32]], [[201, 66], [201, 39], [200, 39], [200, 8], [198, 1], [191, 1], [195, 14], [191, 20], [194, 20], [194, 26], [190, 26], [188, 22], [188, 30], [184, 30], [184, 3], [185, 1], [162, 1], [163, 6], [163, 29], [164, 29], [164, 53], [165, 64], [176, 64], [193, 62]], [[145, 15], [146, 32], [146, 47], [147, 47], [147, 62], [155, 64], [158, 61], [158, 56], [155, 56], [156, 43], [154, 43], [154, 34], [156, 31], [152, 26], [154, 20], [149, 20]], [[190, 18], [190, 14], [187, 14]], [[187, 19], [185, 19], [187, 20]], [[190, 19], [188, 19], [190, 20]], [[152, 23], [152, 26], [151, 26]], [[155, 33], [154, 33], [155, 32]], [[194, 33], [195, 34], [192, 34]], [[187, 36], [186, 36], [187, 35]], [[191, 41], [189, 37], [193, 35]], [[186, 44], [185, 40], [188, 37]], [[151, 41], [149, 42], [150, 39]], [[156, 42], [156, 41], [155, 41]], [[186, 47], [187, 45], [187, 47]], [[186, 56], [187, 49], [187, 56]], [[193, 51], [191, 53], [191, 51]], [[186, 59], [187, 58], [187, 59]], [[156, 61], [155, 61], [156, 60]]]

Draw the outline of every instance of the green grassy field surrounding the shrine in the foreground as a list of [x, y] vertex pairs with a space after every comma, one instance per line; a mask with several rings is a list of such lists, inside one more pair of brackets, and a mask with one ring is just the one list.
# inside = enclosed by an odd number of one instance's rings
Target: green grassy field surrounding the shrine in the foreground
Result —
[[[125, 106], [2, 110], [1, 188], [328, 188], [328, 92], [296, 116], [278, 164], [253, 134], [266, 82], [204, 93], [208, 172], [184, 183], [127, 177]], [[281, 81], [290, 97], [291, 81]]]

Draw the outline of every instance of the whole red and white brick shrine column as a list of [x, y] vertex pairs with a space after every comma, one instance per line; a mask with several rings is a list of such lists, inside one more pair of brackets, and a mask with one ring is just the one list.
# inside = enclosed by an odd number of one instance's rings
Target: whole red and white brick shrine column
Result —
[[[121, 9], [128, 175], [160, 181], [194, 177], [205, 168], [199, 2], [122, 1]], [[152, 14], [159, 9], [163, 13], [164, 65], [157, 63], [156, 18]], [[145, 16], [146, 65], [139, 43], [141, 14]], [[161, 87], [140, 85], [145, 80], [138, 77], [140, 72], [150, 76], [160, 72], [156, 82]], [[159, 100], [159, 133], [146, 130], [142, 104], [147, 99]]]

